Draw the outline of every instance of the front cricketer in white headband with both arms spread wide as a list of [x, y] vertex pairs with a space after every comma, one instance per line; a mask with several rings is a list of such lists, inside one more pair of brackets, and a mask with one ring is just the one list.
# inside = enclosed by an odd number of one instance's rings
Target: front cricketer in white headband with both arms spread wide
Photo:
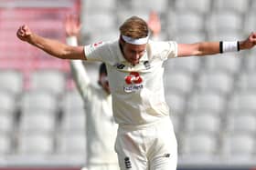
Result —
[[61, 59], [104, 62], [113, 115], [119, 125], [115, 149], [120, 168], [175, 170], [176, 136], [165, 103], [163, 63], [169, 58], [251, 49], [256, 44], [256, 33], [240, 42], [155, 42], [148, 39], [148, 25], [137, 16], [128, 18], [119, 30], [117, 40], [85, 46], [69, 46], [44, 38], [27, 25], [20, 26], [16, 35]]

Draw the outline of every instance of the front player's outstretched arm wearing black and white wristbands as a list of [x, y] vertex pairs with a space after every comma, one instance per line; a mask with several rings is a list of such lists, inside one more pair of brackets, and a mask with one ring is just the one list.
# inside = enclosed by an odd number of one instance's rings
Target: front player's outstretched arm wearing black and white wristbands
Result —
[[201, 42], [195, 44], [178, 44], [178, 56], [215, 55], [251, 49], [256, 45], [256, 33], [251, 33], [244, 41], [239, 42]]

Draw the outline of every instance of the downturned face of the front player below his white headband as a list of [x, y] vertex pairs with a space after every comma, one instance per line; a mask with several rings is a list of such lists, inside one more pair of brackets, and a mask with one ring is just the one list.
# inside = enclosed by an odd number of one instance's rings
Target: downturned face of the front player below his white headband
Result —
[[139, 63], [140, 58], [145, 53], [145, 45], [132, 45], [128, 43], [123, 43], [123, 55], [124, 58], [130, 62], [132, 65]]

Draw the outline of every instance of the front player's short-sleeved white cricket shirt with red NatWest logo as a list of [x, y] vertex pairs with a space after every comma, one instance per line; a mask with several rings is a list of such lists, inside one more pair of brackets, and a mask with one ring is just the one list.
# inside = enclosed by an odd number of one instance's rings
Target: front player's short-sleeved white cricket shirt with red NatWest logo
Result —
[[176, 42], [149, 41], [137, 65], [123, 58], [118, 41], [87, 45], [88, 60], [106, 63], [115, 121], [120, 125], [146, 125], [169, 116], [165, 103], [164, 67], [177, 56]]

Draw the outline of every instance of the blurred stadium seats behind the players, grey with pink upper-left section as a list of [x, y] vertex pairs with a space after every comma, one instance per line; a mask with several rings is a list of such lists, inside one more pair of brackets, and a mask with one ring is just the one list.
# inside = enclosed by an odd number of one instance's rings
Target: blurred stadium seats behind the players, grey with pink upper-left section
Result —
[[[160, 19], [160, 40], [237, 41], [256, 31], [255, 0], [0, 0], [0, 169], [80, 169], [83, 102], [69, 61], [16, 38], [27, 24], [65, 43], [65, 15], [80, 15], [80, 44], [117, 39], [131, 15]], [[86, 63], [97, 84], [98, 64]], [[165, 97], [178, 169], [256, 168], [256, 49], [165, 63]]]

